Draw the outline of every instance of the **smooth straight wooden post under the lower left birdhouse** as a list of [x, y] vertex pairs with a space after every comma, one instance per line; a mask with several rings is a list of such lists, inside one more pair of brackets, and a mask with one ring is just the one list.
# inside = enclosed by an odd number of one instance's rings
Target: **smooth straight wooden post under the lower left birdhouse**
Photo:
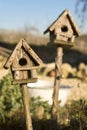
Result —
[[29, 95], [27, 90], [27, 84], [21, 84], [21, 88], [22, 88], [24, 111], [26, 117], [26, 127], [27, 130], [33, 130], [30, 109], [29, 109]]

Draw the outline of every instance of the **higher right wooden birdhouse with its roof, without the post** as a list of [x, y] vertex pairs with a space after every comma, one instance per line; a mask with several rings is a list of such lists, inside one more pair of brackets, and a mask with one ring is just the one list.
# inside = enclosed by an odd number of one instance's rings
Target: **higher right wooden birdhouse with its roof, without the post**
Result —
[[59, 46], [73, 46], [75, 37], [78, 37], [80, 31], [68, 10], [55, 20], [51, 26], [44, 32], [50, 33], [50, 41]]

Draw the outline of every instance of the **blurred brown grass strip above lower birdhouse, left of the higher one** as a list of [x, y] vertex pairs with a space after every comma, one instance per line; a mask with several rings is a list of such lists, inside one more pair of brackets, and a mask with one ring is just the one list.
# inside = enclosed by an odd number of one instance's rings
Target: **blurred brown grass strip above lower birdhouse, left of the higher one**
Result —
[[21, 38], [25, 38], [30, 44], [46, 45], [49, 41], [48, 37], [35, 35], [25, 31], [0, 31], [0, 41], [15, 44], [18, 43]]

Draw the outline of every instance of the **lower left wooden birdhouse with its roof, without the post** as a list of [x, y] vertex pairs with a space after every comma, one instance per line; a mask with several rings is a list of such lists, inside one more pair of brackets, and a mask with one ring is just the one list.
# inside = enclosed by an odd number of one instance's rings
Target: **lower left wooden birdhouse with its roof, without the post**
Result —
[[28, 43], [22, 39], [13, 50], [11, 56], [5, 64], [5, 68], [10, 68], [13, 74], [13, 83], [36, 82], [36, 70], [42, 60], [31, 49]]

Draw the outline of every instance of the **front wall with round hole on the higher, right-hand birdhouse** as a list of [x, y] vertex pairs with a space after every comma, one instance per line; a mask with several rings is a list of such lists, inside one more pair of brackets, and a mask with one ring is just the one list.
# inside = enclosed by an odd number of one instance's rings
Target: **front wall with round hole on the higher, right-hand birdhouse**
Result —
[[72, 37], [74, 35], [73, 26], [70, 23], [70, 20], [67, 15], [59, 19], [54, 30], [54, 40], [74, 42], [74, 39], [72, 40]]

